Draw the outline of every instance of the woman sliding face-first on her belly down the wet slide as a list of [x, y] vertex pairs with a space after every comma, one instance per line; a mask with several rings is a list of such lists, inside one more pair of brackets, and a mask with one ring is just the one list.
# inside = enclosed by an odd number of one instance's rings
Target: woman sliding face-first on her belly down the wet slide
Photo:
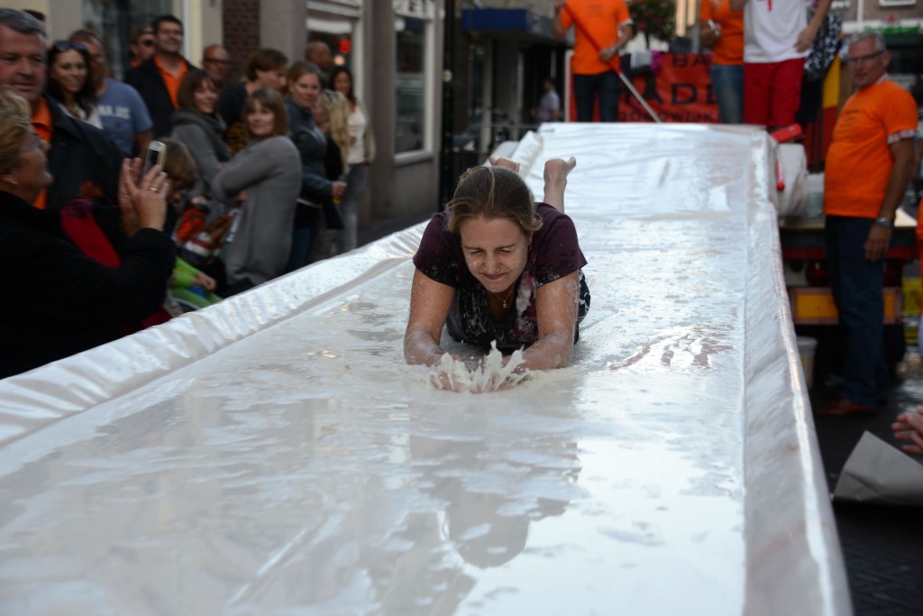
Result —
[[[491, 163], [462, 174], [446, 211], [430, 221], [414, 255], [404, 358], [439, 366], [435, 384], [443, 389], [467, 389], [443, 359], [443, 326], [459, 342], [496, 341], [504, 354], [524, 348], [515, 369], [521, 375], [568, 366], [578, 324], [590, 308], [581, 272], [586, 259], [564, 213], [567, 175], [576, 161], [545, 163], [541, 203], [516, 173], [517, 163]], [[504, 367], [509, 359], [504, 357]], [[490, 389], [509, 384], [514, 382]]]

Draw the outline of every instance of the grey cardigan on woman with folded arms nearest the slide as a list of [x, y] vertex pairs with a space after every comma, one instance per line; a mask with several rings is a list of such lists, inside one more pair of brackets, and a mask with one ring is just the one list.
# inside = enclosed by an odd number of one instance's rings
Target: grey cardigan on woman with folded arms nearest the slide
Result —
[[301, 190], [301, 160], [292, 140], [270, 137], [250, 143], [214, 176], [211, 190], [228, 205], [246, 190], [226, 253], [228, 283], [248, 278], [263, 284], [285, 272]]

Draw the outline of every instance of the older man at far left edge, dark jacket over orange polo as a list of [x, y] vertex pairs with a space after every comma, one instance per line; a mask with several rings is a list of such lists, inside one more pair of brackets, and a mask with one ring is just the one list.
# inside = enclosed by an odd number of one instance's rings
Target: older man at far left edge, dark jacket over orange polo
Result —
[[[54, 182], [32, 205], [60, 211], [72, 199], [101, 199], [96, 213], [103, 230], [118, 241], [118, 179], [125, 155], [102, 130], [69, 117], [44, 96], [47, 66], [42, 23], [24, 11], [0, 8], [0, 86], [8, 86], [32, 108], [32, 126], [45, 142]], [[108, 201], [108, 203], [106, 202]]]

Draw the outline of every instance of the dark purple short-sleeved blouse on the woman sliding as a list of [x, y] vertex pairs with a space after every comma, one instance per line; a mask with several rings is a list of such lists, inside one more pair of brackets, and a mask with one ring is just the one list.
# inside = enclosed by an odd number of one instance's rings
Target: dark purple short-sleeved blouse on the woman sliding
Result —
[[513, 294], [513, 309], [499, 321], [490, 314], [484, 285], [468, 271], [461, 238], [446, 230], [448, 214], [436, 214], [426, 226], [414, 265], [436, 282], [455, 287], [449, 332], [456, 340], [484, 346], [496, 340], [497, 348], [508, 351], [535, 343], [538, 287], [586, 265], [570, 217], [546, 203], [536, 203], [536, 212], [542, 219], [542, 228], [533, 234], [525, 269]]

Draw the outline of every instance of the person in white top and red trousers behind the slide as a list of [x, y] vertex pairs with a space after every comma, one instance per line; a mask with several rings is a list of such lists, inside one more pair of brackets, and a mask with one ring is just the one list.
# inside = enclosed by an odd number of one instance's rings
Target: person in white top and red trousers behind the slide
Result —
[[731, 0], [744, 9], [744, 124], [770, 131], [795, 123], [805, 56], [832, 0]]

